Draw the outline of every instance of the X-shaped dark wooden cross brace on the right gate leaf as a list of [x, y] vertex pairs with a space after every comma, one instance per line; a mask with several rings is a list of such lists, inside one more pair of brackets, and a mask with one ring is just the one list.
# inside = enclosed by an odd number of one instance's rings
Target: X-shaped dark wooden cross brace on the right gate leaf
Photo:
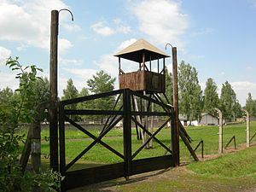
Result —
[[131, 159], [133, 160], [137, 154], [139, 154], [139, 152], [150, 142], [151, 139], [154, 138], [154, 140], [160, 144], [160, 146], [162, 146], [163, 148], [166, 148], [167, 151], [169, 151], [172, 154], [172, 150], [170, 150], [170, 148], [167, 148], [165, 144], [161, 143], [159, 139], [157, 139], [155, 136], [159, 133], [159, 131], [161, 131], [162, 128], [164, 128], [166, 126], [166, 124], [168, 123], [168, 121], [171, 120], [171, 118], [167, 119], [166, 122], [160, 126], [160, 128], [158, 128], [157, 131], [155, 131], [153, 134], [151, 132], [149, 132], [147, 129], [145, 129], [145, 127], [143, 125], [141, 125], [139, 122], [137, 122], [136, 119], [134, 119], [133, 117], [131, 117], [131, 119], [139, 126], [143, 129], [143, 131], [145, 131], [150, 137], [148, 138], [148, 140], [143, 143], [143, 145], [137, 149], [137, 151], [132, 154]]

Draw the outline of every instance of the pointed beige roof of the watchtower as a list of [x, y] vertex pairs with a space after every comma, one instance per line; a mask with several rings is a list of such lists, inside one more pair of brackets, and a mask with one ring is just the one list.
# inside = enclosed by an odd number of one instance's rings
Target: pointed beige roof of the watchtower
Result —
[[114, 56], [125, 58], [131, 61], [143, 62], [143, 53], [145, 53], [145, 61], [153, 61], [156, 59], [169, 57], [169, 55], [166, 55], [164, 51], [154, 47], [153, 44], [149, 44], [143, 38], [119, 51]]

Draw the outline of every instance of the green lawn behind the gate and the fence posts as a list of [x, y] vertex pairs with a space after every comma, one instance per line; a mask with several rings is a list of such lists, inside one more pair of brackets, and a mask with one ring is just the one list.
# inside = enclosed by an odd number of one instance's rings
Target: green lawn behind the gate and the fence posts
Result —
[[[155, 131], [156, 129], [154, 129]], [[189, 126], [186, 127], [189, 136], [192, 137], [192, 146], [195, 146], [201, 141], [204, 141], [204, 153], [205, 154], [218, 154], [218, 126]], [[256, 131], [256, 122], [251, 122], [251, 135]], [[100, 131], [90, 129], [90, 132], [98, 136]], [[142, 145], [141, 140], [137, 140], [136, 130], [133, 128], [131, 131], [132, 140], [132, 153]], [[46, 142], [44, 137], [49, 137], [49, 130], [44, 128], [42, 130], [42, 153], [49, 154], [49, 142]], [[84, 148], [93, 142], [93, 139], [87, 137], [82, 131], [67, 128], [65, 132], [66, 143], [66, 159], [67, 163], [73, 160]], [[239, 125], [224, 125], [224, 145], [228, 143], [230, 138], [236, 136], [236, 145], [239, 146], [242, 143], [246, 143], [246, 124]], [[165, 143], [166, 146], [170, 146], [171, 130], [170, 128], [164, 128], [157, 135], [157, 138]], [[109, 146], [123, 154], [123, 133], [122, 129], [113, 129], [108, 132], [106, 137], [103, 137], [102, 141]], [[253, 139], [256, 141], [256, 137]], [[158, 143], [154, 142], [154, 148], [145, 149], [137, 154], [135, 159], [143, 159], [147, 157], [154, 157], [166, 154], [166, 149], [162, 148]], [[230, 143], [229, 148], [234, 148], [234, 144]], [[198, 148], [196, 153], [201, 156], [201, 148]], [[180, 140], [180, 154], [181, 162], [192, 162], [193, 159], [189, 154], [189, 151], [184, 146], [182, 140]], [[48, 160], [43, 160], [47, 162]], [[117, 163], [123, 160], [119, 156], [110, 152], [107, 148], [102, 147], [101, 144], [96, 144], [93, 148], [86, 153], [81, 160], [78, 161], [77, 166], [85, 165], [86, 163], [97, 166], [102, 164]], [[76, 166], [76, 165], [75, 165]], [[75, 168], [75, 167], [73, 167]]]

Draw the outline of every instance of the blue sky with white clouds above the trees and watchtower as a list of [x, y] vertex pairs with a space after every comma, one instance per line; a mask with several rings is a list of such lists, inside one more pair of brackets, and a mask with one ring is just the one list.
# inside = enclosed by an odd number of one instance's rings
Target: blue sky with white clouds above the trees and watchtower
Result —
[[[58, 92], [73, 79], [78, 90], [100, 70], [117, 78], [113, 55], [144, 38], [159, 49], [177, 47], [178, 63], [196, 68], [201, 89], [207, 79], [228, 81], [242, 106], [256, 98], [256, 0], [0, 0], [0, 89], [18, 87], [5, 66], [9, 56], [43, 68], [49, 77], [50, 11], [60, 12]], [[171, 55], [171, 49], [166, 49]], [[166, 61], [172, 69], [172, 60]], [[127, 70], [133, 63], [124, 63]]]

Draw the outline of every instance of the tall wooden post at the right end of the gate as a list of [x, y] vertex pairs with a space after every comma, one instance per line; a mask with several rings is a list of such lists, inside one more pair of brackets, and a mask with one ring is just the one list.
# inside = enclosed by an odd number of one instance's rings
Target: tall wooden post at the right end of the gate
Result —
[[173, 75], [173, 127], [172, 153], [173, 166], [179, 166], [179, 134], [178, 134], [178, 89], [177, 89], [177, 48], [172, 47], [172, 75]]

